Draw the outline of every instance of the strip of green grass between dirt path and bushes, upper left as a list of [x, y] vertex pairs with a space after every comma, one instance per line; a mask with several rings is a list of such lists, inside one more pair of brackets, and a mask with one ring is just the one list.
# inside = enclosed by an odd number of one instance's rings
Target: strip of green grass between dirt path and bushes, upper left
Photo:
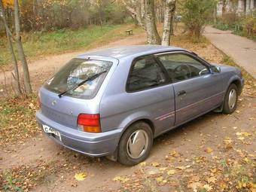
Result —
[[[61, 29], [54, 32], [31, 32], [23, 35], [23, 47], [28, 59], [72, 50], [86, 50], [115, 38], [125, 36], [131, 24], [89, 26], [78, 30]], [[141, 30], [141, 29], [135, 29]], [[11, 66], [11, 55], [5, 37], [0, 38], [0, 67]]]

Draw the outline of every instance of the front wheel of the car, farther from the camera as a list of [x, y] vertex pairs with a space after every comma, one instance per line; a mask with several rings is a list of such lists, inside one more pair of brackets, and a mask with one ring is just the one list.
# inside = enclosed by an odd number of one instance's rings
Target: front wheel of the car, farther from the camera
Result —
[[238, 89], [235, 84], [230, 84], [224, 99], [223, 113], [232, 114], [236, 110]]

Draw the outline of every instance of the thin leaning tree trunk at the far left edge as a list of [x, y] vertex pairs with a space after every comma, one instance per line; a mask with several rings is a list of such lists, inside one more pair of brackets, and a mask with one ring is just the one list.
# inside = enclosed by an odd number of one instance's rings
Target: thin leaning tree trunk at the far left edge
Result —
[[2, 0], [0, 0], [0, 11], [2, 12], [2, 20], [5, 24], [5, 32], [6, 32], [6, 37], [7, 37], [7, 40], [8, 40], [8, 47], [9, 47], [9, 50], [10, 50], [10, 53], [11, 53], [11, 58], [13, 59], [13, 62], [14, 62], [14, 81], [15, 81], [15, 91], [17, 93], [18, 96], [21, 95], [21, 89], [20, 89], [20, 75], [19, 75], [19, 69], [18, 69], [18, 65], [17, 65], [17, 59], [16, 59], [16, 56], [15, 56], [15, 53], [14, 53], [14, 47], [12, 45], [12, 42], [11, 42], [11, 31], [10, 29], [8, 29], [8, 23], [6, 21], [6, 17], [5, 17], [5, 9], [4, 9], [4, 6], [2, 4]]

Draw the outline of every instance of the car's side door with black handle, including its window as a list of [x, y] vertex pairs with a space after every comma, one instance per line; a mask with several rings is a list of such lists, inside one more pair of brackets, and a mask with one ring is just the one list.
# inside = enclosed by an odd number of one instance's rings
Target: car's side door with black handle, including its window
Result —
[[209, 64], [187, 52], [162, 53], [157, 58], [166, 68], [175, 92], [175, 125], [184, 123], [221, 105], [221, 75]]

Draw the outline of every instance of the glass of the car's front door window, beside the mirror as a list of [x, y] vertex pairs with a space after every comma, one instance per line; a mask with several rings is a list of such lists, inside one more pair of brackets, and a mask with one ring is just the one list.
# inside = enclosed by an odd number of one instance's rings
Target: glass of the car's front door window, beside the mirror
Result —
[[209, 69], [196, 59], [182, 53], [157, 56], [166, 68], [172, 82], [182, 81], [209, 73]]

